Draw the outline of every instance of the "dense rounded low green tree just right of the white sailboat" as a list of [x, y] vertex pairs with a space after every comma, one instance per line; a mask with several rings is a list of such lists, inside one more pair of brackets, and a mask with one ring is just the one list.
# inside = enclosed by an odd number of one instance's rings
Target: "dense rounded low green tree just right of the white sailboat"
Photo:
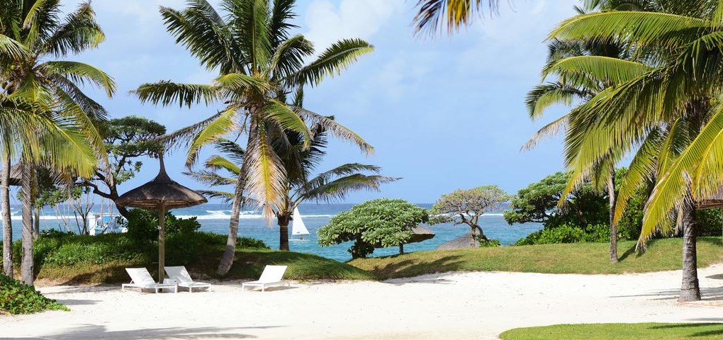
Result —
[[353, 206], [332, 217], [317, 231], [319, 245], [329, 246], [354, 241], [351, 258], [366, 258], [375, 247], [402, 245], [412, 230], [429, 221], [427, 210], [403, 199], [374, 199]]

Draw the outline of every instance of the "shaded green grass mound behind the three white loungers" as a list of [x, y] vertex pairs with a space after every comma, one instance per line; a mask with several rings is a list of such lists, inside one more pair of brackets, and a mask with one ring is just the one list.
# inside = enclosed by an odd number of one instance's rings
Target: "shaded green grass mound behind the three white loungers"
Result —
[[[226, 276], [215, 274], [226, 247], [226, 236], [194, 232], [166, 239], [166, 266], [186, 266], [194, 278], [258, 279], [268, 264], [286, 265], [285, 279], [373, 280], [375, 276], [346, 263], [306, 253], [241, 248], [257, 245], [241, 240], [234, 266]], [[39, 284], [119, 284], [129, 282], [126, 268], [145, 267], [158, 274], [158, 245], [138, 243], [127, 235], [60, 235], [35, 243]], [[18, 271], [19, 272], [19, 269]]]

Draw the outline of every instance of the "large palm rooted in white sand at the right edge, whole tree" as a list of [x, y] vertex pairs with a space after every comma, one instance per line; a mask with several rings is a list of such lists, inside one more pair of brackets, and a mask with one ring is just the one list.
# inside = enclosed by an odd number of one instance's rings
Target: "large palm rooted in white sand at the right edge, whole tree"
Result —
[[[568, 134], [566, 153], [570, 164], [581, 169], [611, 150], [630, 152], [639, 146], [623, 188], [646, 175], [654, 175], [656, 185], [646, 204], [638, 245], [644, 247], [656, 230], [672, 228], [671, 217], [677, 215], [684, 238], [680, 300], [698, 300], [691, 217], [695, 202], [712, 196], [723, 184], [718, 178], [720, 157], [716, 157], [723, 150], [716, 148], [723, 146], [716, 146], [715, 141], [723, 129], [716, 121], [723, 123], [723, 115], [711, 105], [719, 102], [717, 89], [723, 74], [719, 63], [723, 43], [716, 38], [721, 34], [723, 6], [719, 1], [651, 2], [661, 10], [586, 14], [562, 22], [552, 32], [551, 37], [562, 40], [633, 44], [656, 66], [581, 105], [580, 128]], [[712, 113], [710, 108], [715, 108]], [[662, 138], [661, 128], [667, 133]], [[685, 132], [684, 138], [677, 137], [680, 131]], [[656, 152], [661, 146], [663, 153]], [[626, 203], [623, 188], [616, 219]]]

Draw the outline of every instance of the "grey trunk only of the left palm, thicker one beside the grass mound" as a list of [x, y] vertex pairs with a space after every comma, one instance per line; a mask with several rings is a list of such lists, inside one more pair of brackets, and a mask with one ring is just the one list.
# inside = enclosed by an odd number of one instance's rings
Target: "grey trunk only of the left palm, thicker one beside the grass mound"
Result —
[[22, 282], [33, 285], [33, 165], [22, 162]]

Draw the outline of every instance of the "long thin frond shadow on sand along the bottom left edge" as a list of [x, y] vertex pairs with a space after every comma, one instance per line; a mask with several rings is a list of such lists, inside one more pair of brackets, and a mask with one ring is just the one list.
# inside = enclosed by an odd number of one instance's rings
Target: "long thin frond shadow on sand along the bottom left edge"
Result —
[[61, 334], [34, 338], [3, 339], [255, 339], [257, 336], [242, 334], [244, 329], [266, 329], [267, 327], [201, 327], [201, 328], [150, 328], [132, 331], [108, 331], [105, 326], [87, 325], [63, 331]]

